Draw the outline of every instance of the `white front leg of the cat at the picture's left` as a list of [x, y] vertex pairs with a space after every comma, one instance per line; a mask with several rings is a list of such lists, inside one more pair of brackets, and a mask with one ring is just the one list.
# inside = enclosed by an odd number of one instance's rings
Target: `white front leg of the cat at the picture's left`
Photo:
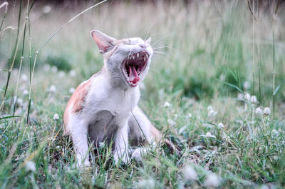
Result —
[[73, 141], [73, 146], [76, 151], [76, 160], [79, 167], [90, 166], [88, 158], [88, 141], [87, 141], [87, 129], [83, 121], [74, 116], [71, 123], [71, 138]]

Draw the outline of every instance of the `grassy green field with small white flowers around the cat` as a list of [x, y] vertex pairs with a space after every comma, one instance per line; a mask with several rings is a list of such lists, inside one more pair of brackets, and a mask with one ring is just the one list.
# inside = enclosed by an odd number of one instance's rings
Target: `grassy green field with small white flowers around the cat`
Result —
[[[283, 1], [107, 1], [70, 22], [94, 4], [43, 2], [0, 1], [0, 188], [285, 187]], [[63, 111], [103, 66], [92, 29], [152, 37], [139, 106], [180, 154], [115, 165], [102, 146], [76, 167]]]

